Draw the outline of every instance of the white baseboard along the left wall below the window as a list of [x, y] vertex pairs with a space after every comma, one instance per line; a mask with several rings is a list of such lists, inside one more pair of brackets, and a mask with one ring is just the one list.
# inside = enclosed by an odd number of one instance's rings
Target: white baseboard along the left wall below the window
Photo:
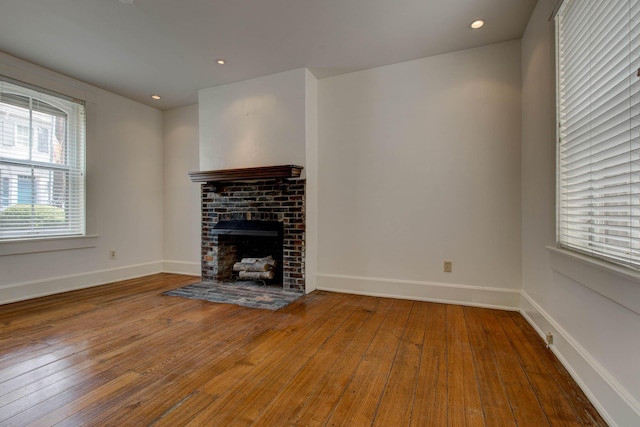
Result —
[[46, 295], [100, 286], [121, 280], [135, 279], [163, 272], [161, 261], [88, 273], [54, 277], [33, 282], [14, 283], [0, 287], [0, 304], [8, 304]]

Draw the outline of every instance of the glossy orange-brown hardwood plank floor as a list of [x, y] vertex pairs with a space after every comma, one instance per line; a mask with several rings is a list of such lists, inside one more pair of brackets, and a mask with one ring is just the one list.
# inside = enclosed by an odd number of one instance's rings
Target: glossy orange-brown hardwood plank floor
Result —
[[518, 313], [160, 274], [0, 306], [2, 426], [603, 426]]

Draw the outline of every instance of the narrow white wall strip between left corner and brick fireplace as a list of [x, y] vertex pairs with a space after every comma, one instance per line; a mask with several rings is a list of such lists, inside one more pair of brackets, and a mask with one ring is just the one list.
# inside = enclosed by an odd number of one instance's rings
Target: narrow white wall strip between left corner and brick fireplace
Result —
[[198, 104], [163, 113], [164, 271], [200, 276], [200, 184]]

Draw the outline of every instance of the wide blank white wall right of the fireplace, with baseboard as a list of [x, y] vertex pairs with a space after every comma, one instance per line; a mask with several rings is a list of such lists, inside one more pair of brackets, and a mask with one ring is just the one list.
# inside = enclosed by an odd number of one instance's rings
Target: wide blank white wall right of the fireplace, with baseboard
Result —
[[318, 288], [518, 307], [520, 78], [513, 41], [319, 81]]

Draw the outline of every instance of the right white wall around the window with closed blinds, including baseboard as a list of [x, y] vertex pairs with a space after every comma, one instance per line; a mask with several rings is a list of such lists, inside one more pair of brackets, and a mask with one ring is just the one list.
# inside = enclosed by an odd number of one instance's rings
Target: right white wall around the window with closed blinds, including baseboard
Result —
[[552, 1], [522, 39], [522, 311], [612, 425], [640, 425], [640, 282], [547, 249], [555, 241]]

